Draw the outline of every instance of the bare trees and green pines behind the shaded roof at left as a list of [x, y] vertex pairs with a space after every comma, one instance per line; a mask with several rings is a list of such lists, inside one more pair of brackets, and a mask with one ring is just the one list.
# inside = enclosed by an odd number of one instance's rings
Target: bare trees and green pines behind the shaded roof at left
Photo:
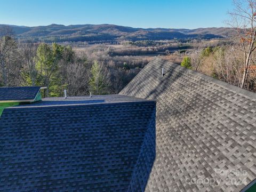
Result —
[[[44, 97], [118, 93], [138, 73], [57, 43], [20, 43], [0, 29], [0, 86], [46, 86]], [[120, 81], [127, 78], [127, 81]]]

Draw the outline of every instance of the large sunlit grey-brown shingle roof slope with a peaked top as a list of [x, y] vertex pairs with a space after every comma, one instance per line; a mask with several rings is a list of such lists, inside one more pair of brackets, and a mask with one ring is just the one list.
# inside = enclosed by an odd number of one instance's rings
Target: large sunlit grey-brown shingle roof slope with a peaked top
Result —
[[254, 93], [156, 58], [119, 94], [157, 101], [146, 191], [239, 191], [256, 178]]

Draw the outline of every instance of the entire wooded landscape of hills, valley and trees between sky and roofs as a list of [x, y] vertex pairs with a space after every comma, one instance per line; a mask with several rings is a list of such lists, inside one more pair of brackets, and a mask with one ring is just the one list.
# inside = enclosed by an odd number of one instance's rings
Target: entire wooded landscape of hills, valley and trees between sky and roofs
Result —
[[252, 31], [0, 25], [0, 86], [47, 86], [45, 97], [64, 89], [69, 95], [115, 94], [157, 56], [255, 92]]

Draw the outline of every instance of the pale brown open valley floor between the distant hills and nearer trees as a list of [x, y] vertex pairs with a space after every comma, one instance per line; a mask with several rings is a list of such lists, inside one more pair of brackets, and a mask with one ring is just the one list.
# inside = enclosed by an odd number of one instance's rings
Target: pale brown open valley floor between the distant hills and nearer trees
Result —
[[[103, 61], [133, 63], [129, 69], [141, 68], [154, 57], [161, 57], [180, 64], [183, 57], [189, 54], [195, 47], [216, 47], [228, 44], [228, 39], [209, 40], [170, 40], [170, 41], [123, 41], [118, 44], [68, 44], [78, 55], [87, 55], [90, 59]], [[66, 44], [67, 45], [67, 44]], [[140, 63], [143, 63], [141, 65]], [[134, 63], [137, 63], [134, 65]]]

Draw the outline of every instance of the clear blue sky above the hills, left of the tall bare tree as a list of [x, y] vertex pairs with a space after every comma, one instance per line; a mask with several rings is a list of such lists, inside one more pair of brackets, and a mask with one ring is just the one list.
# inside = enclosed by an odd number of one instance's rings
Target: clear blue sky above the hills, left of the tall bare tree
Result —
[[143, 28], [225, 27], [231, 0], [0, 0], [0, 23], [109, 23]]

